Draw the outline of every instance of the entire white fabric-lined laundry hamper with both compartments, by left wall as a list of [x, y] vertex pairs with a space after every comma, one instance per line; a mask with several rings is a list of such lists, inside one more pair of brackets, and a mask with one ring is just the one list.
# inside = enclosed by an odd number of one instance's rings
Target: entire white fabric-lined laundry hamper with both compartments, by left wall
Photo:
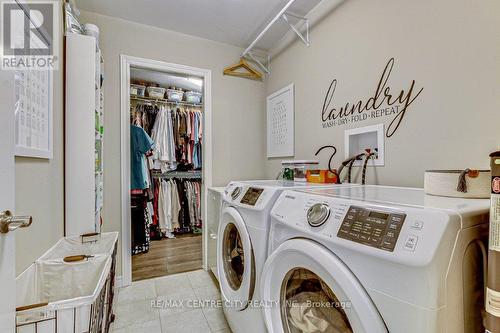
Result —
[[62, 238], [17, 278], [17, 333], [109, 332], [118, 233], [85, 239]]

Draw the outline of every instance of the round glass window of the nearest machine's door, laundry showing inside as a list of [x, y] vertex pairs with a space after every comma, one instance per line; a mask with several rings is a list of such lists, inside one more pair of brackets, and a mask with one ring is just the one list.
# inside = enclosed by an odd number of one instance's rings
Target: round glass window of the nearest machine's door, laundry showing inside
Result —
[[281, 285], [286, 333], [352, 333], [345, 306], [318, 275], [305, 268], [289, 271]]

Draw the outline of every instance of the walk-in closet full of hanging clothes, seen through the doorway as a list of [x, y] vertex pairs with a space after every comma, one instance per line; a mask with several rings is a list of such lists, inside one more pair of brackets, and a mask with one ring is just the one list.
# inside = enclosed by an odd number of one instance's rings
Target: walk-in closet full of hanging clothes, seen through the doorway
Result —
[[202, 267], [203, 80], [130, 70], [132, 280]]

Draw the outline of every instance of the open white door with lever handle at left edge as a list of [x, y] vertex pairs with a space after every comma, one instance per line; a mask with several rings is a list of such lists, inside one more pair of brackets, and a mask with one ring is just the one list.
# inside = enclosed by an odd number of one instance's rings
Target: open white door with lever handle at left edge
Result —
[[[0, 70], [0, 212], [14, 211], [14, 72]], [[15, 331], [14, 233], [0, 233], [0, 332]]]

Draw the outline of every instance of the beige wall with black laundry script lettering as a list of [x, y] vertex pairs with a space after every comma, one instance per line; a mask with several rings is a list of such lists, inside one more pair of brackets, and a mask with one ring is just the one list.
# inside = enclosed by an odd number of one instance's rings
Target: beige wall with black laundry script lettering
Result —
[[[385, 139], [385, 167], [371, 168], [368, 181], [423, 186], [426, 169], [488, 168], [500, 147], [499, 12], [495, 0], [346, 0], [314, 27], [309, 48], [296, 42], [272, 60], [267, 95], [295, 83], [295, 157], [333, 144], [338, 166], [345, 129], [388, 125], [393, 117], [324, 129], [321, 110], [334, 78], [332, 106], [367, 100], [394, 57], [391, 90], [407, 91], [412, 80], [424, 90]], [[326, 167], [329, 155], [320, 157]], [[266, 163], [268, 177], [279, 160]]]

